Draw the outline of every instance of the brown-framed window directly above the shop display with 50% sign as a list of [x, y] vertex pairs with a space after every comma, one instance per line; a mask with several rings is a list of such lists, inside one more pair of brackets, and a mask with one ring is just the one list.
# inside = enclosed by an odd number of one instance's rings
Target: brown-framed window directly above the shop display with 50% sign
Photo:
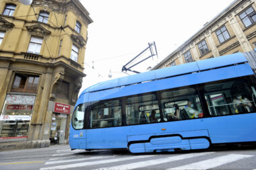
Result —
[[15, 75], [11, 91], [36, 93], [38, 81], [38, 76], [17, 74]]

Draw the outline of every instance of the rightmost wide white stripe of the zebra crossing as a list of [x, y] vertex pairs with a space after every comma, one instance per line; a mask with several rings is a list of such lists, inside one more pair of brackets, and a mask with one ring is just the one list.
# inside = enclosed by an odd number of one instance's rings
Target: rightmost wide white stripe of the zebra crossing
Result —
[[210, 169], [210, 168], [218, 167], [220, 165], [224, 165], [226, 163], [232, 163], [234, 161], [238, 161], [240, 159], [245, 159], [245, 158], [249, 158], [249, 157], [253, 157], [253, 156], [254, 155], [230, 154], [230, 155], [225, 155], [222, 157], [207, 159], [205, 161], [199, 161], [197, 163], [183, 165], [180, 167], [170, 168], [168, 170], [172, 170], [172, 169]]

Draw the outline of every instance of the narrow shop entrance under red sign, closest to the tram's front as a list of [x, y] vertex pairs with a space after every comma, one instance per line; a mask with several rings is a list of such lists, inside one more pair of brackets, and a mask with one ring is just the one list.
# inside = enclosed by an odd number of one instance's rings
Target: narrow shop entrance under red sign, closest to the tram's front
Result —
[[65, 144], [68, 140], [70, 105], [55, 102], [51, 124], [51, 144]]

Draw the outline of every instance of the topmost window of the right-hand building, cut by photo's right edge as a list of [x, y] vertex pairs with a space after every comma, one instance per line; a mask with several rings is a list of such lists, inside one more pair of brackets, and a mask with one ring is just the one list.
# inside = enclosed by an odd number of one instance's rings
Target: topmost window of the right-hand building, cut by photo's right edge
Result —
[[248, 9], [246, 9], [243, 13], [239, 15], [239, 17], [242, 19], [245, 27], [249, 27], [251, 26], [251, 24], [256, 22], [256, 13], [253, 7], [249, 7]]

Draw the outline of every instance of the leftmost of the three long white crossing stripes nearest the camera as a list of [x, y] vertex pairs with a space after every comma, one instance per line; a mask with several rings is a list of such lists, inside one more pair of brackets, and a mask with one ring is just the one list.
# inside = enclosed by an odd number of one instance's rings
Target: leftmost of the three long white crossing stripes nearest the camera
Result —
[[91, 161], [86, 163], [75, 163], [75, 164], [69, 164], [69, 165], [60, 165], [55, 167], [45, 167], [40, 168], [40, 170], [46, 170], [46, 169], [68, 169], [68, 168], [74, 168], [74, 167], [85, 167], [90, 165], [99, 165], [103, 163], [115, 163], [119, 161], [128, 161], [132, 159], [142, 159], [142, 158], [149, 158], [149, 157], [155, 157], [155, 155], [141, 155], [141, 156], [132, 156], [132, 157], [125, 157], [125, 158], [117, 158], [117, 159], [106, 159], [102, 161]]

